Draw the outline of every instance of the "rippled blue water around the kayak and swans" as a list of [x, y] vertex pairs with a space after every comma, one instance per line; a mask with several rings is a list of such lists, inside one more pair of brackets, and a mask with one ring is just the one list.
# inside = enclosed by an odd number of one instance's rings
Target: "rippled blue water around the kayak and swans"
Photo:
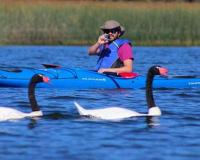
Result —
[[[41, 67], [42, 63], [91, 69], [87, 47], [0, 47], [1, 66]], [[200, 47], [136, 47], [135, 71], [153, 64], [169, 74], [200, 75]], [[28, 112], [26, 89], [0, 88], [1, 106]], [[0, 122], [0, 159], [197, 160], [200, 159], [200, 90], [155, 90], [163, 115], [120, 122], [78, 116], [73, 101], [87, 108], [123, 106], [146, 112], [144, 90], [37, 89], [44, 117]]]

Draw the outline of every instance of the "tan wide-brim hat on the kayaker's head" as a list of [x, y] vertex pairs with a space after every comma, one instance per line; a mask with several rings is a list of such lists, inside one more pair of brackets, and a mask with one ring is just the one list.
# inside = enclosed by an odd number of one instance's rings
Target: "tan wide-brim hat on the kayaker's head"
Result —
[[125, 32], [125, 28], [117, 21], [115, 20], [108, 20], [104, 23], [103, 26], [100, 27], [101, 30], [105, 30], [105, 29], [114, 29], [120, 27], [121, 30], [121, 35], [122, 36]]

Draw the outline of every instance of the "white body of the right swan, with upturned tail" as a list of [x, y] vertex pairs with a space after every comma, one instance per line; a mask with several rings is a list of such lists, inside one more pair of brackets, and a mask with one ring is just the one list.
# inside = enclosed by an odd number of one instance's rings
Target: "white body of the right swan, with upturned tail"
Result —
[[139, 117], [139, 116], [160, 116], [161, 111], [159, 107], [152, 107], [149, 109], [147, 114], [138, 113], [133, 110], [129, 110], [121, 107], [109, 107], [102, 109], [85, 109], [77, 102], [74, 102], [78, 112], [82, 116], [89, 116], [103, 120], [121, 120], [127, 119], [131, 117]]

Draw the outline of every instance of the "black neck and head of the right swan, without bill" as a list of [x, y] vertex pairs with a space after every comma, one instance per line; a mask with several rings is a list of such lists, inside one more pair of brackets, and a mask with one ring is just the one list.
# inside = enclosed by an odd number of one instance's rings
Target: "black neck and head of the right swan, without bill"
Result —
[[159, 74], [159, 70], [158, 67], [153, 66], [149, 69], [148, 74], [147, 74], [147, 79], [146, 79], [146, 100], [147, 100], [147, 105], [148, 108], [152, 108], [155, 107], [155, 101], [154, 101], [154, 97], [153, 97], [153, 87], [152, 87], [152, 83], [153, 83], [153, 79], [155, 75]]

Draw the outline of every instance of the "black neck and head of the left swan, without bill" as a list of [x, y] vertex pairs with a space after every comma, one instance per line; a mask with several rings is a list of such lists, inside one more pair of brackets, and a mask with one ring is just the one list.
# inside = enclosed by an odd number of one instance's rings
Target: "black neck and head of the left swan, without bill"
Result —
[[40, 108], [39, 108], [36, 98], [35, 98], [35, 87], [36, 87], [37, 83], [39, 83], [39, 82], [43, 82], [42, 75], [36, 74], [31, 78], [31, 81], [29, 83], [28, 97], [29, 97], [29, 102], [31, 104], [31, 109], [33, 112], [40, 111]]

